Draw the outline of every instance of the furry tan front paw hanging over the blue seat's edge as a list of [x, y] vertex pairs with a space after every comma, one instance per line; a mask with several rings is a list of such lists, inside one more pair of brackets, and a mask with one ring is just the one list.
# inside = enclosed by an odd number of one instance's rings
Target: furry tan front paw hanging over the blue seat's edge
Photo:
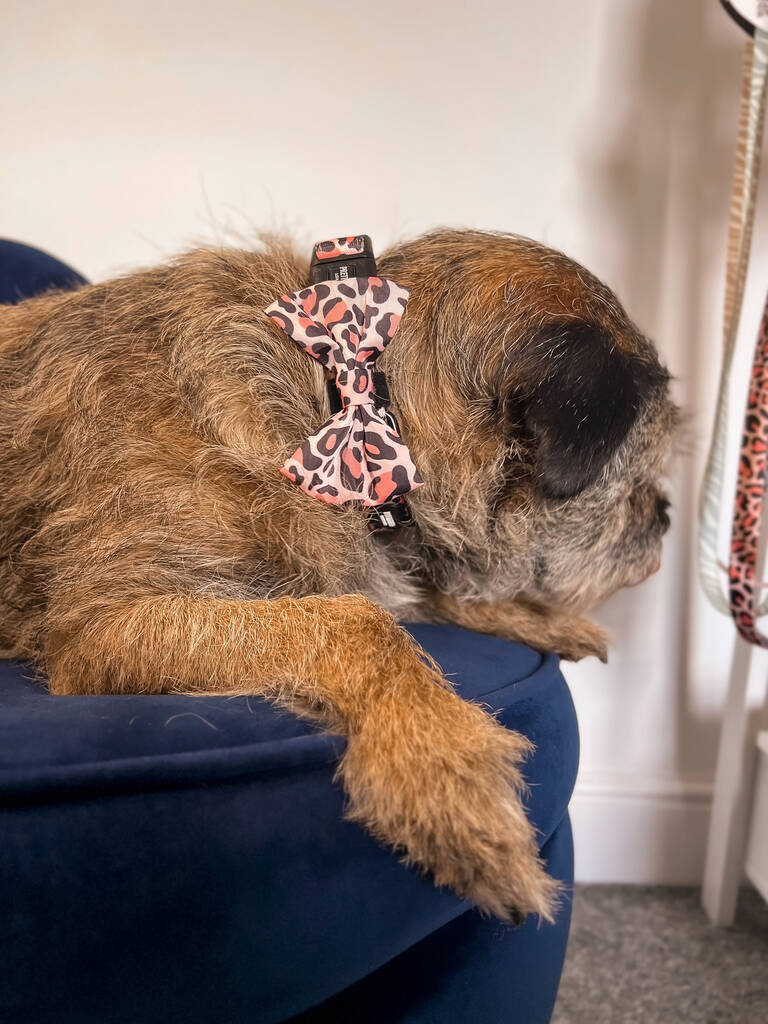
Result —
[[560, 886], [521, 802], [519, 765], [530, 749], [449, 691], [418, 713], [392, 699], [350, 737], [341, 765], [348, 816], [483, 911], [551, 922]]

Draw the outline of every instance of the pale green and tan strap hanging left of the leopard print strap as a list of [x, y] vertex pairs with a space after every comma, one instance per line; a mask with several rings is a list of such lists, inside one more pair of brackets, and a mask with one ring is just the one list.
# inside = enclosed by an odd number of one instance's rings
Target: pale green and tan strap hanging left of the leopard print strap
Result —
[[[728, 262], [723, 306], [723, 365], [720, 371], [715, 427], [698, 506], [699, 579], [710, 601], [726, 615], [730, 614], [730, 605], [727, 590], [723, 589], [722, 584], [723, 568], [718, 562], [718, 540], [723, 502], [725, 441], [728, 432], [728, 388], [744, 294], [746, 265], [750, 259], [752, 227], [755, 221], [767, 71], [768, 32], [756, 29], [754, 41], [751, 39], [744, 50], [738, 143], [728, 220]], [[766, 611], [768, 611], [768, 600], [760, 606], [757, 614], [762, 615]]]

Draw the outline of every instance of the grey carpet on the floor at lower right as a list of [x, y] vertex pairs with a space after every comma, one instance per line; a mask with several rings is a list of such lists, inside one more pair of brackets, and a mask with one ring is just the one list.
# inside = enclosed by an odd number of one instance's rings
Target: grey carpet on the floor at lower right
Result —
[[711, 928], [697, 889], [578, 886], [553, 1024], [768, 1024], [768, 905]]

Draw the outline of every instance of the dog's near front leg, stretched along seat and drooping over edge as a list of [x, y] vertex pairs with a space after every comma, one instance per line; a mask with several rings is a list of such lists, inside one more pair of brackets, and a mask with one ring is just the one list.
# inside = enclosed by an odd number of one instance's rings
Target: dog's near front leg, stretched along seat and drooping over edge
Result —
[[558, 886], [520, 800], [530, 744], [366, 598], [152, 597], [51, 627], [56, 693], [257, 694], [345, 732], [350, 818], [482, 909], [551, 920]]

